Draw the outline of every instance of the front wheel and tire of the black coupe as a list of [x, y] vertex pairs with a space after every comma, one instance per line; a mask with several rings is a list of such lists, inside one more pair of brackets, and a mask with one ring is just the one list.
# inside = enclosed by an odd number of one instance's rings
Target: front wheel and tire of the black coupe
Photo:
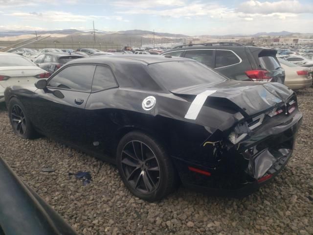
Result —
[[26, 116], [25, 107], [17, 98], [12, 98], [8, 105], [8, 114], [14, 133], [23, 139], [34, 139], [34, 130], [29, 118]]

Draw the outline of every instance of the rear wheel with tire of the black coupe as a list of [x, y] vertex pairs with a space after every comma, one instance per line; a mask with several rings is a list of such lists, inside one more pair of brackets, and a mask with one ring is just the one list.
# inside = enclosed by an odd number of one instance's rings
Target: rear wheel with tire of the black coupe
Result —
[[142, 132], [121, 139], [116, 163], [125, 186], [143, 200], [160, 200], [177, 188], [178, 176], [165, 148]]

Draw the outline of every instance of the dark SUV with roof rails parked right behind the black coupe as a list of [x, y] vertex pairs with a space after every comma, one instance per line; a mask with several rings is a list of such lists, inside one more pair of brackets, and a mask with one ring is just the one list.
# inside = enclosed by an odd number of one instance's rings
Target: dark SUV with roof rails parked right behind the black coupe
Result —
[[198, 60], [235, 80], [284, 83], [285, 71], [276, 58], [276, 52], [269, 48], [223, 42], [178, 46], [162, 55]]

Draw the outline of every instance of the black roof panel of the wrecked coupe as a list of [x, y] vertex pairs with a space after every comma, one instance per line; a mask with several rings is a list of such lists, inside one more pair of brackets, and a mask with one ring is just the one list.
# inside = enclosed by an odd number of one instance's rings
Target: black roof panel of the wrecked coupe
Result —
[[111, 64], [112, 62], [127, 62], [133, 61], [138, 63], [153, 64], [160, 62], [169, 62], [169, 61], [195, 61], [189, 58], [182, 57], [172, 57], [164, 55], [131, 55], [131, 54], [122, 54], [122, 55], [103, 55], [103, 56], [94, 56], [94, 57], [84, 57], [77, 60], [70, 61], [68, 64], [80, 64], [80, 63], [94, 63], [94, 64]]

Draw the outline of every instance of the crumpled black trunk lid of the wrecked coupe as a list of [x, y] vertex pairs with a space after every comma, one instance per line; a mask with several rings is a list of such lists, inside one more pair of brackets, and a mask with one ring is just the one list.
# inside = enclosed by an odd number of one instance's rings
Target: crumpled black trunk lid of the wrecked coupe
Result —
[[177, 95], [197, 96], [205, 91], [215, 91], [210, 97], [225, 98], [237, 106], [242, 113], [250, 116], [286, 102], [293, 94], [285, 85], [280, 83], [258, 83], [226, 80], [224, 82], [206, 85], [184, 87], [171, 90]]

